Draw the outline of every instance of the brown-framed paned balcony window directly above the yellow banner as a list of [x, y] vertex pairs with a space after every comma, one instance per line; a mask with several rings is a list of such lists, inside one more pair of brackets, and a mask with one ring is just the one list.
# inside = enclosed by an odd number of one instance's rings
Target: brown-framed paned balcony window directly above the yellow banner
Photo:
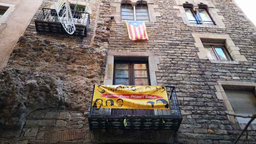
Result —
[[115, 61], [114, 85], [150, 85], [146, 61]]

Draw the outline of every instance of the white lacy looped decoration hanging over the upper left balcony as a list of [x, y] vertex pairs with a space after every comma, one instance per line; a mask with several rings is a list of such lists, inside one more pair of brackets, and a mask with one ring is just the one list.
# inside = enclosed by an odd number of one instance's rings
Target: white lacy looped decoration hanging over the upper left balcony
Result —
[[58, 0], [57, 6], [55, 5], [54, 0], [54, 6], [58, 15], [58, 19], [62, 24], [63, 28], [66, 30], [68, 34], [74, 34], [74, 32], [76, 31], [76, 27], [74, 24], [68, 0]]

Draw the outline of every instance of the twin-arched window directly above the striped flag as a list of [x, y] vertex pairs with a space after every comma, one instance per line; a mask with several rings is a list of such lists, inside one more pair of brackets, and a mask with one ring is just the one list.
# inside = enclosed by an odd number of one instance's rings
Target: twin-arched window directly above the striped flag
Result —
[[121, 4], [122, 21], [134, 20], [149, 22], [148, 6], [145, 1], [138, 1], [135, 6], [132, 4]]

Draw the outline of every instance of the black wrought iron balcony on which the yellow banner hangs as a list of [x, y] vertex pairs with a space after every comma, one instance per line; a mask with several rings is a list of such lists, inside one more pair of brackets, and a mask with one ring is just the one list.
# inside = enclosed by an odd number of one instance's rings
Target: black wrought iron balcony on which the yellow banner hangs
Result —
[[[178, 131], [182, 122], [174, 86], [166, 86], [170, 109], [90, 108], [90, 129], [143, 129]], [[93, 94], [92, 94], [93, 96]], [[93, 98], [92, 98], [93, 99]], [[126, 120], [127, 125], [124, 125]]]

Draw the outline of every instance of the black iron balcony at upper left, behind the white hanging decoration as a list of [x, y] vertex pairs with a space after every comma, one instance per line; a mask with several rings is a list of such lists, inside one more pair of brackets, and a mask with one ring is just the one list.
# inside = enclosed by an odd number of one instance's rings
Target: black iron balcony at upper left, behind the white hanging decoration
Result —
[[[73, 35], [86, 37], [89, 31], [90, 14], [88, 12], [72, 12], [72, 14], [76, 26]], [[35, 20], [35, 24], [37, 32], [66, 33], [54, 9], [43, 8]]]

